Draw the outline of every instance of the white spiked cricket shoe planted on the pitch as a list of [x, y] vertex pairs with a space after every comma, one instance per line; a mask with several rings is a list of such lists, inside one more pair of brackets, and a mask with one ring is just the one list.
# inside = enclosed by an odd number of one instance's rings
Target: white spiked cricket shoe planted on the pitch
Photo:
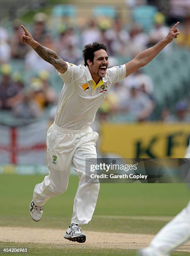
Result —
[[72, 242], [84, 243], [86, 241], [86, 235], [82, 233], [80, 225], [71, 223], [68, 227], [65, 235], [65, 239]]

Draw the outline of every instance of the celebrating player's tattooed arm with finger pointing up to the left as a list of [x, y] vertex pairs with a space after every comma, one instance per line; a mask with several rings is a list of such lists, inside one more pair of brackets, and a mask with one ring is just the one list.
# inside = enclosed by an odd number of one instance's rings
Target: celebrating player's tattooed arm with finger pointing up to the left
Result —
[[62, 60], [55, 51], [52, 51], [35, 41], [23, 25], [21, 25], [21, 28], [23, 28], [25, 32], [21, 33], [20, 40], [30, 45], [42, 59], [52, 64], [60, 73], [65, 73], [67, 70], [67, 63]]

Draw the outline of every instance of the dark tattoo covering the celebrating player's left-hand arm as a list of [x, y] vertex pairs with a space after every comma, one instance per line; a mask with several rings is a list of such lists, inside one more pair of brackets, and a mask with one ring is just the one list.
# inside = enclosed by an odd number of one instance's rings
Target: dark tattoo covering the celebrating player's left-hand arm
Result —
[[52, 64], [56, 69], [62, 70], [63, 72], [67, 71], [67, 63], [62, 60], [55, 51], [41, 45], [37, 46], [34, 50], [42, 59]]

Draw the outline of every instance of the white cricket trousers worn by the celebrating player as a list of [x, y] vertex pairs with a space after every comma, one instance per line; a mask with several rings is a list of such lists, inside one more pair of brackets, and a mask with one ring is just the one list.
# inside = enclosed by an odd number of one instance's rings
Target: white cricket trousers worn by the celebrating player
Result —
[[47, 200], [67, 190], [70, 167], [80, 179], [74, 199], [71, 223], [87, 224], [95, 210], [99, 183], [85, 183], [85, 159], [97, 158], [95, 142], [98, 133], [87, 127], [66, 130], [53, 123], [47, 131], [47, 159], [49, 175], [34, 188], [33, 201], [44, 205]]

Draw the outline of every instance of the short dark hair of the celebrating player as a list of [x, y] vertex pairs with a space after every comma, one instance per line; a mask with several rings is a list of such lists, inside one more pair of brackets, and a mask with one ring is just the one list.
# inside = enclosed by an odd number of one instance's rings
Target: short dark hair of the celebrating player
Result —
[[85, 60], [85, 66], [88, 66], [87, 60], [90, 61], [94, 60], [94, 52], [98, 51], [100, 49], [103, 49], [107, 52], [107, 46], [105, 44], [100, 44], [97, 42], [94, 42], [93, 44], [86, 44], [84, 47], [84, 50], [82, 51], [83, 58]]

